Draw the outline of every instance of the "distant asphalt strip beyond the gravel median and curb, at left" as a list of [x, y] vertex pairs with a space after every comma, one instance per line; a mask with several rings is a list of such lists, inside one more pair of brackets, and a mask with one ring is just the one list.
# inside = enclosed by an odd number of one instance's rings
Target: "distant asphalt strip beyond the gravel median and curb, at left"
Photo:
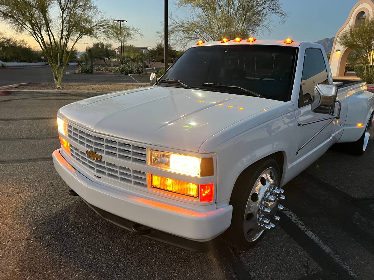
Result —
[[[105, 73], [67, 74], [67, 72], [73, 72], [77, 67], [76, 65], [68, 65], [66, 67], [63, 83], [149, 83], [149, 74], [133, 76]], [[0, 68], [0, 77], [0, 87], [19, 83], [53, 83], [52, 71], [49, 66]]]

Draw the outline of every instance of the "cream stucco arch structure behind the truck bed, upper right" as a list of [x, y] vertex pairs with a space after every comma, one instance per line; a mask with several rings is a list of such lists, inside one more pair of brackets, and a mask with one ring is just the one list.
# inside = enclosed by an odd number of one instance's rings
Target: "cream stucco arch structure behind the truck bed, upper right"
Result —
[[[356, 3], [349, 13], [347, 21], [338, 30], [335, 35], [334, 45], [332, 46], [330, 56], [330, 66], [332, 76], [344, 76], [346, 68], [347, 57], [350, 53], [350, 49], [338, 44], [337, 40], [342, 31], [350, 28], [351, 25], [357, 25], [361, 21], [360, 18], [366, 15], [374, 15], [374, 0], [361, 0]], [[340, 50], [340, 51], [339, 51]]]

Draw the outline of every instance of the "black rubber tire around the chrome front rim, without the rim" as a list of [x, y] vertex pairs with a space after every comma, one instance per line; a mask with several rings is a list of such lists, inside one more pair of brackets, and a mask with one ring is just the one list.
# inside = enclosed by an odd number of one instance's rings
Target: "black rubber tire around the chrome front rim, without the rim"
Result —
[[[263, 159], [248, 167], [236, 180], [230, 205], [233, 206], [231, 225], [226, 231], [226, 239], [237, 249], [248, 249], [255, 246], [263, 237], [264, 232], [255, 241], [248, 242], [244, 236], [243, 219], [249, 196], [260, 175], [268, 168], [274, 168], [277, 172], [277, 180], [281, 178], [279, 165], [273, 158]], [[255, 217], [257, 218], [257, 217]]]

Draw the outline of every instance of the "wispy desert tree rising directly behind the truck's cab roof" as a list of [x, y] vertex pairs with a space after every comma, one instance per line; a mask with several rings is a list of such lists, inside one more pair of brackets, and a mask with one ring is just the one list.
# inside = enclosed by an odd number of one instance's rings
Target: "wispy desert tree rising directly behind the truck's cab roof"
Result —
[[274, 17], [280, 24], [286, 18], [280, 0], [177, 0], [176, 6], [186, 17], [169, 17], [169, 38], [181, 47], [197, 39], [260, 35], [274, 28]]

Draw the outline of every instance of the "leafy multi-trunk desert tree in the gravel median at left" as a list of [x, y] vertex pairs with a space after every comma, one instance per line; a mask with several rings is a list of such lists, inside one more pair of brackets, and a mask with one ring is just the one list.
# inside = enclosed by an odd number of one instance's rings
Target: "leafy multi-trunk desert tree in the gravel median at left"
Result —
[[[31, 35], [61, 87], [65, 67], [74, 46], [83, 37], [119, 38], [119, 26], [107, 18], [93, 0], [0, 0], [0, 19], [15, 32]], [[122, 35], [140, 33], [126, 26]], [[67, 50], [62, 52], [61, 49]]]

